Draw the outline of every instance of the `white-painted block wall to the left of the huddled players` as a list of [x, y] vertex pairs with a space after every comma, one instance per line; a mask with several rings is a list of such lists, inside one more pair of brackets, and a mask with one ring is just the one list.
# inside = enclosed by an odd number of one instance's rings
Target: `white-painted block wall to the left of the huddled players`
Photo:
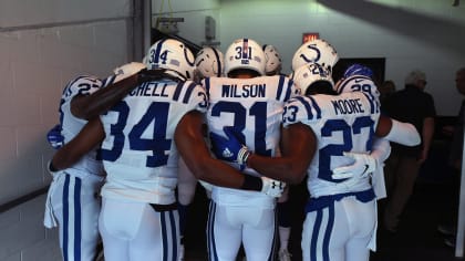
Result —
[[[0, 1], [0, 206], [48, 186], [45, 134], [65, 83], [128, 60], [131, 0]], [[111, 7], [111, 8], [110, 8]], [[42, 195], [0, 215], [0, 260], [60, 260]]]

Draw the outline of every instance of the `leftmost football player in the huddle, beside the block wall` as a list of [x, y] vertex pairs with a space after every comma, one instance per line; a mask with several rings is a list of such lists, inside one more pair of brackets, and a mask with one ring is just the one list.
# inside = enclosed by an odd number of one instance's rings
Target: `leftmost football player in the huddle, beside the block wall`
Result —
[[[63, 144], [72, 143], [80, 130], [87, 123], [76, 113], [81, 101], [107, 86], [110, 91], [115, 88], [115, 83], [128, 75], [140, 73], [145, 65], [131, 63], [115, 70], [115, 74], [101, 81], [95, 76], [78, 76], [63, 90], [60, 102], [60, 124], [53, 127], [48, 139], [52, 147], [59, 148]], [[137, 75], [135, 76], [137, 77]], [[127, 79], [128, 86], [135, 86]], [[138, 80], [135, 80], [137, 82]], [[117, 87], [117, 86], [116, 86]], [[68, 155], [74, 152], [69, 152]], [[96, 148], [80, 155], [80, 160], [69, 168], [53, 176], [50, 185], [44, 215], [46, 228], [59, 227], [60, 248], [63, 260], [93, 260], [96, 255], [96, 247], [100, 241], [97, 221], [100, 200], [95, 195], [103, 184], [104, 171], [101, 160], [97, 159]], [[63, 160], [65, 160], [63, 158]]]

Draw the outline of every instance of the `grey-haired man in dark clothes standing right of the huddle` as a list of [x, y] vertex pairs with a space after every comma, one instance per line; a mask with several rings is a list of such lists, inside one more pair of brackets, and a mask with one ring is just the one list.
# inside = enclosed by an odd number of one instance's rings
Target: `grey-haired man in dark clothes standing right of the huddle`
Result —
[[405, 88], [392, 94], [383, 104], [388, 116], [413, 124], [422, 136], [422, 143], [414, 147], [392, 145], [385, 169], [388, 202], [384, 210], [384, 228], [390, 232], [397, 230], [400, 216], [412, 195], [433, 139], [436, 109], [431, 94], [424, 92], [425, 87], [425, 73], [412, 71], [405, 77]]

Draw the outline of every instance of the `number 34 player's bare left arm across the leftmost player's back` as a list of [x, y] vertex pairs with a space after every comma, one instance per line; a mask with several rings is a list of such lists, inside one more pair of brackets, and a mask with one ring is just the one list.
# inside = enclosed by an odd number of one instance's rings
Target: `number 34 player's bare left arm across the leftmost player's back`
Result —
[[82, 156], [102, 143], [104, 137], [105, 133], [100, 118], [93, 118], [72, 140], [56, 150], [49, 166], [50, 170], [56, 171], [71, 167]]

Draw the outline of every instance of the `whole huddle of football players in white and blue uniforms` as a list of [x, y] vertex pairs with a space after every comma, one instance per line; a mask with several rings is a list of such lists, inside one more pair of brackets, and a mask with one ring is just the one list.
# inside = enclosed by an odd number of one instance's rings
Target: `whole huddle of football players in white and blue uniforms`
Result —
[[277, 49], [251, 39], [196, 56], [164, 39], [143, 63], [70, 82], [48, 135], [58, 150], [44, 217], [63, 260], [93, 260], [100, 240], [110, 261], [184, 260], [197, 180], [210, 198], [208, 260], [235, 261], [240, 246], [248, 261], [291, 260], [286, 185], [303, 180], [303, 260], [369, 260], [389, 142], [420, 135], [380, 115], [369, 67], [334, 84], [338, 60], [313, 40], [286, 76]]

